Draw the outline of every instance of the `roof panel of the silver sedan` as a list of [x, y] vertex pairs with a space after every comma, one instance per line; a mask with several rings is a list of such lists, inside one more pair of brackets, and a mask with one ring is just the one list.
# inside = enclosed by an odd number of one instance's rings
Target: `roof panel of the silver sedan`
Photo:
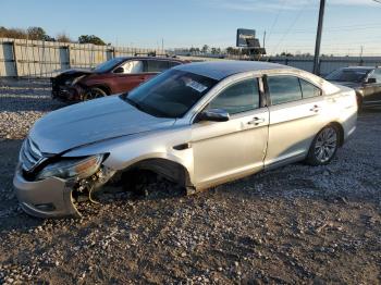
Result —
[[221, 80], [230, 75], [250, 72], [290, 69], [290, 66], [263, 61], [208, 61], [188, 63], [175, 66], [174, 69], [195, 73], [217, 80]]

